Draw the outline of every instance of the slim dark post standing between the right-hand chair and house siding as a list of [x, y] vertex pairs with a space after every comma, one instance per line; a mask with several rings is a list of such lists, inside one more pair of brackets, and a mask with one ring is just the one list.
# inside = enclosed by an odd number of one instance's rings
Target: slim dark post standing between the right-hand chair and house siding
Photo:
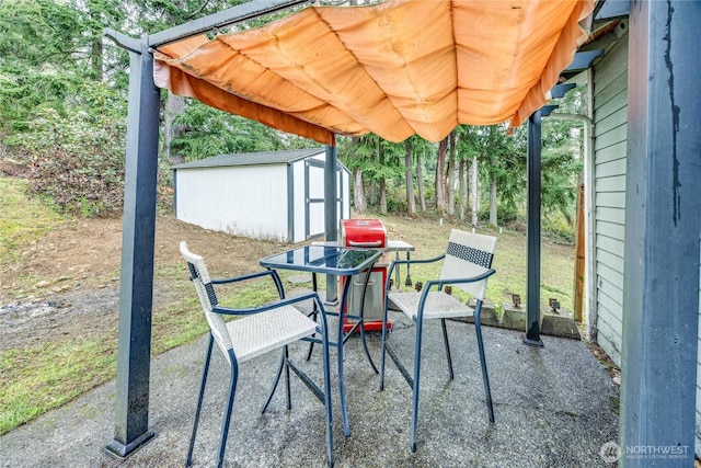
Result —
[[528, 118], [528, 260], [526, 339], [524, 343], [542, 346], [540, 339], [540, 111]]

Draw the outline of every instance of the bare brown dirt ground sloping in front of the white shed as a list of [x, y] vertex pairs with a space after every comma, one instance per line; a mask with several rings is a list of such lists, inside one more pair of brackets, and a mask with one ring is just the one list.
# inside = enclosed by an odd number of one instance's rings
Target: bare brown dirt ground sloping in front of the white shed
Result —
[[[258, 259], [283, 249], [280, 243], [208, 231], [160, 215], [154, 308], [177, 300], [174, 283], [187, 282], [177, 251], [182, 240], [207, 259], [217, 276], [255, 270]], [[81, 219], [50, 231], [22, 252], [21, 263], [1, 265], [0, 352], [47, 336], [69, 339], [114, 328], [119, 310], [120, 255], [122, 219]], [[166, 276], [177, 279], [160, 279], [163, 275], [159, 271], [174, 272]]]

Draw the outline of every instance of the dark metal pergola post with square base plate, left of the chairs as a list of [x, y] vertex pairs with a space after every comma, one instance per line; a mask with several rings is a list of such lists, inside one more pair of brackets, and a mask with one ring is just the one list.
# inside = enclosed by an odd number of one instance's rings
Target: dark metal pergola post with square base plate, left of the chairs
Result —
[[130, 53], [115, 434], [105, 447], [117, 457], [154, 435], [148, 416], [159, 111], [153, 57], [142, 45]]

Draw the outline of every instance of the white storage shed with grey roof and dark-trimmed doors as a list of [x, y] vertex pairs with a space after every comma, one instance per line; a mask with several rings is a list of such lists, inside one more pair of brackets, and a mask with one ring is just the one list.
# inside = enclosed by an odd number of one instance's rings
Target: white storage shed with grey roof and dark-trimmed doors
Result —
[[[323, 236], [324, 165], [324, 148], [220, 155], [173, 165], [175, 216], [254, 239], [301, 242]], [[336, 213], [346, 219], [350, 174], [337, 167]]]

